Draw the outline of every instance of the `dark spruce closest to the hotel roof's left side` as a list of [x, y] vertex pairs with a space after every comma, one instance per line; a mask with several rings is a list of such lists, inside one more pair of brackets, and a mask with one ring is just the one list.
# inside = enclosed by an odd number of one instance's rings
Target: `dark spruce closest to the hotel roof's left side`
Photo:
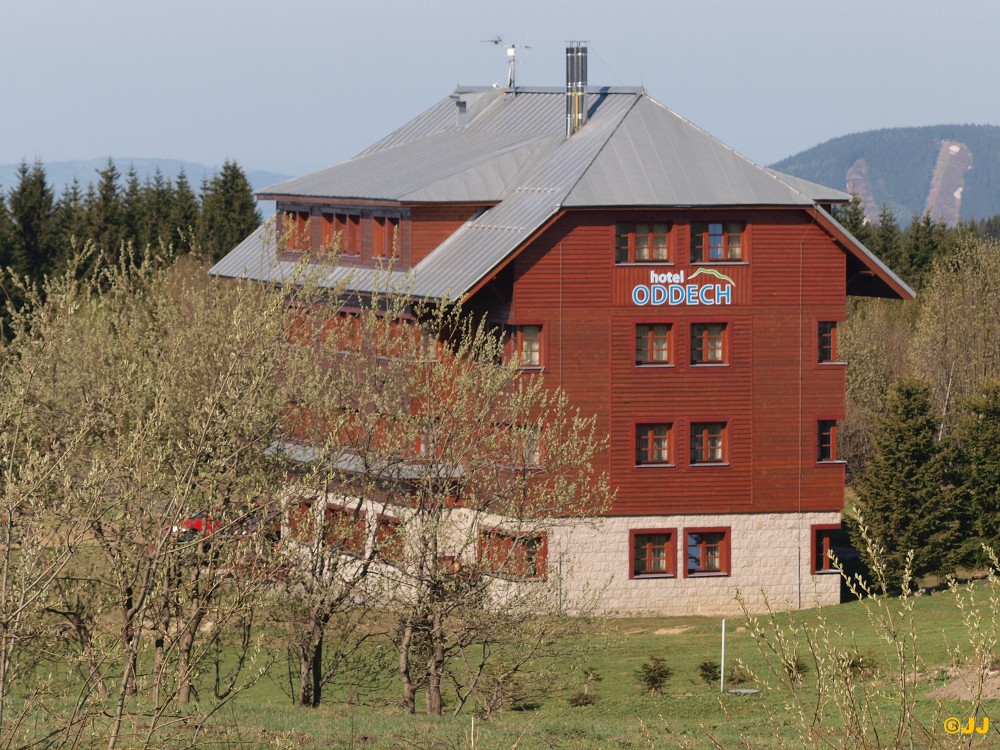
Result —
[[202, 252], [218, 261], [260, 226], [253, 188], [235, 161], [227, 160], [203, 191]]

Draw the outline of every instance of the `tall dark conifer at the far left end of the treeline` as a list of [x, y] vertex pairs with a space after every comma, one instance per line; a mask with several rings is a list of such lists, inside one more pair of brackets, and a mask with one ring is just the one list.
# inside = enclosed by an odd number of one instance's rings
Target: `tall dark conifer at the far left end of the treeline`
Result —
[[55, 199], [41, 162], [31, 168], [21, 162], [17, 175], [17, 187], [8, 199], [14, 226], [12, 265], [17, 274], [40, 282], [55, 252]]

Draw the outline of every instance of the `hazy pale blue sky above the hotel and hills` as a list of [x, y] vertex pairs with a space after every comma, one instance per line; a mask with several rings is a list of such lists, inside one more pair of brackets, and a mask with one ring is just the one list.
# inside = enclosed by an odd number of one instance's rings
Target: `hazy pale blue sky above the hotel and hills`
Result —
[[175, 158], [298, 174], [506, 79], [653, 98], [760, 163], [876, 128], [1000, 124], [997, 0], [0, 0], [0, 163]]

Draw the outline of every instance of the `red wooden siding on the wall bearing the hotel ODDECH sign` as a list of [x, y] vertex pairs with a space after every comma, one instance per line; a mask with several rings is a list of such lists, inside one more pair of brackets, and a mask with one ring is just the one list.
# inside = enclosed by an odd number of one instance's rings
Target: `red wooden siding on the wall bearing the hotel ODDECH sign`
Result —
[[[546, 381], [610, 436], [598, 469], [618, 488], [612, 514], [839, 510], [844, 467], [816, 462], [816, 429], [843, 417], [845, 368], [817, 363], [816, 327], [845, 317], [843, 251], [804, 211], [677, 210], [656, 213], [672, 225], [670, 263], [615, 265], [616, 223], [649, 215], [568, 213], [514, 260], [504, 308], [503, 322], [544, 326]], [[716, 219], [747, 222], [744, 262], [691, 264], [689, 222]], [[699, 268], [708, 272], [692, 279]], [[706, 293], [696, 304], [637, 305], [633, 289], [650, 286], [652, 272], [731, 287], [729, 304]], [[671, 366], [636, 366], [640, 323], [672, 326]], [[690, 363], [698, 323], [725, 323], [726, 364]], [[725, 464], [691, 465], [690, 427], [702, 422], [726, 424]], [[671, 466], [635, 465], [645, 423], [672, 425]]]

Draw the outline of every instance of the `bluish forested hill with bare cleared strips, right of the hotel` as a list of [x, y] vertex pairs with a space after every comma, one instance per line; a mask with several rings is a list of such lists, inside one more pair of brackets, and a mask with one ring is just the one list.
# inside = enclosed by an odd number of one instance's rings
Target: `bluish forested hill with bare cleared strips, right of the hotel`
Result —
[[854, 133], [772, 165], [857, 193], [871, 220], [889, 206], [955, 224], [1000, 214], [1000, 127], [931, 125]]

